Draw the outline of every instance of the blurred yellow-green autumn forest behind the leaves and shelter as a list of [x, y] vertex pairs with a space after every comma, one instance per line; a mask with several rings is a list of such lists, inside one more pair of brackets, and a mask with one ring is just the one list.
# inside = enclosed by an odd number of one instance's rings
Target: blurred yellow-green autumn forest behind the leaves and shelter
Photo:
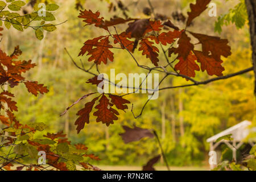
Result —
[[[189, 0], [151, 0], [156, 13], [162, 13], [172, 17], [175, 12], [187, 16]], [[228, 10], [239, 1], [213, 1], [217, 4], [217, 16], [228, 13]], [[81, 101], [75, 105], [63, 117], [59, 115], [65, 108], [71, 105], [77, 98], [96, 90], [96, 87], [86, 84], [92, 77], [80, 71], [72, 64], [64, 48], [79, 61], [82, 60], [86, 68], [87, 58], [77, 57], [83, 43], [101, 35], [99, 28], [84, 27], [81, 19], [77, 18], [79, 11], [75, 9], [75, 1], [55, 0], [60, 6], [56, 11], [56, 23], [68, 22], [57, 27], [55, 32], [44, 32], [45, 38], [39, 41], [35, 38], [34, 31], [18, 32], [11, 28], [3, 32], [5, 37], [1, 42], [1, 49], [11, 53], [13, 47], [20, 45], [23, 51], [23, 59], [31, 59], [38, 66], [30, 71], [27, 78], [38, 80], [48, 86], [49, 93], [35, 97], [27, 92], [24, 86], [15, 90], [15, 99], [18, 102], [19, 112], [17, 117], [22, 123], [44, 122], [49, 126], [48, 132], [64, 130], [68, 138], [75, 143], [84, 143], [89, 149], [102, 160], [96, 164], [118, 166], [141, 166], [152, 155], [160, 153], [155, 139], [143, 139], [139, 142], [125, 144], [119, 133], [123, 133], [122, 125], [145, 129], [155, 129], [163, 144], [168, 163], [171, 166], [207, 166], [209, 144], [206, 139], [218, 132], [236, 125], [243, 120], [255, 121], [255, 98], [253, 95], [253, 72], [229, 78], [208, 85], [194, 86], [184, 89], [164, 90], [160, 92], [158, 100], [150, 101], [142, 117], [134, 119], [129, 110], [122, 113], [115, 125], [106, 127], [100, 123], [90, 122], [79, 135], [75, 130], [74, 122], [76, 112], [84, 105]], [[148, 7], [146, 0], [125, 0], [123, 3], [128, 7], [131, 17], [149, 18], [143, 14], [144, 7]], [[122, 16], [117, 9], [109, 13], [108, 1], [86, 0], [83, 7], [93, 12], [99, 10], [106, 19], [113, 15]], [[245, 14], [246, 16], [246, 14]], [[208, 11], [199, 16], [189, 27], [190, 30], [208, 35], [219, 35], [214, 32], [214, 23], [218, 17], [210, 18]], [[175, 22], [175, 20], [174, 20]], [[176, 22], [182, 24], [182, 22]], [[175, 24], [176, 24], [175, 23]], [[118, 30], [125, 27], [119, 26]], [[114, 31], [114, 30], [112, 30]], [[232, 56], [224, 59], [225, 72], [233, 73], [251, 66], [251, 51], [249, 30], [246, 26], [237, 30], [234, 24], [222, 27], [221, 37], [229, 40], [232, 47]], [[115, 73], [142, 73], [130, 55], [126, 51], [114, 50], [114, 62], [107, 66], [100, 65], [101, 72], [115, 68]], [[147, 62], [146, 57], [135, 51], [137, 60]], [[163, 60], [160, 55], [159, 60]], [[197, 73], [196, 80], [207, 80], [209, 76]], [[184, 84], [183, 78], [170, 78], [166, 85]], [[164, 85], [163, 86], [166, 86]], [[147, 100], [147, 94], [134, 94], [127, 97], [134, 101], [134, 112], [139, 113]], [[230, 153], [230, 154], [229, 154]], [[228, 152], [231, 158], [232, 151]]]

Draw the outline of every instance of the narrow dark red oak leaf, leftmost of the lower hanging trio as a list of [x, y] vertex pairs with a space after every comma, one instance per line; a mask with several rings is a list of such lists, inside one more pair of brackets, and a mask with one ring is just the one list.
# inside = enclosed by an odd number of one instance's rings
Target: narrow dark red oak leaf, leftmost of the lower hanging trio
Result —
[[77, 134], [79, 134], [79, 132], [84, 128], [85, 123], [89, 123], [90, 112], [92, 111], [93, 106], [97, 100], [98, 97], [94, 98], [92, 101], [86, 103], [83, 109], [77, 112], [76, 115], [79, 115], [79, 118], [77, 118], [75, 122], [75, 125], [77, 125]]

